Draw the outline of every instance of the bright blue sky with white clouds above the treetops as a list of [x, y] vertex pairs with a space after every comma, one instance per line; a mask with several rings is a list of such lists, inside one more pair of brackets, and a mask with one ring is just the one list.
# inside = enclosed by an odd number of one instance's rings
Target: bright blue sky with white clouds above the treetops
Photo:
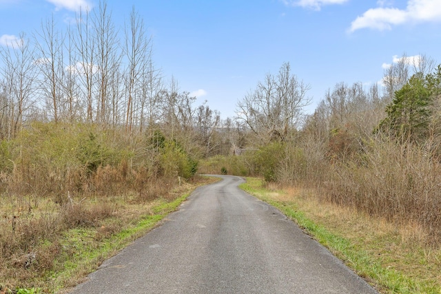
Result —
[[[441, 0], [107, 0], [123, 27], [132, 7], [154, 63], [223, 118], [265, 74], [289, 62], [312, 112], [336, 83], [381, 80], [384, 66], [425, 54], [441, 63]], [[0, 46], [54, 15], [61, 30], [99, 0], [0, 0]], [[395, 56], [395, 57], [394, 57]]]

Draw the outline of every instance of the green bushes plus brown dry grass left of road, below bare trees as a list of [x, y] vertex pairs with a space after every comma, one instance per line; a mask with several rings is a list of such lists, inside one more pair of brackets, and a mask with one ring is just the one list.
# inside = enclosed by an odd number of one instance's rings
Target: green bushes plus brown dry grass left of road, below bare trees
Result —
[[63, 231], [94, 227], [125, 202], [169, 198], [198, 166], [159, 129], [127, 137], [80, 123], [32, 123], [0, 154], [0, 275], [19, 280], [53, 270]]

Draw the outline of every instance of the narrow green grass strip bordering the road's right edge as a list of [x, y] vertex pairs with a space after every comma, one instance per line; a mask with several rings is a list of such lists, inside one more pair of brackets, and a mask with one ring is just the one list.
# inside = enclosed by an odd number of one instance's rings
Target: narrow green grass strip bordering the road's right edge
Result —
[[[427, 280], [425, 277], [411, 278], [393, 268], [382, 266], [381, 260], [371, 254], [375, 250], [368, 248], [368, 244], [365, 248], [360, 245], [363, 244], [362, 240], [353, 242], [352, 238], [349, 240], [340, 232], [330, 231], [326, 224], [314, 222], [302, 211], [302, 207], [299, 206], [301, 202], [277, 200], [271, 197], [271, 193], [274, 191], [263, 188], [261, 180], [247, 178], [247, 182], [240, 185], [240, 188], [282, 211], [291, 220], [294, 220], [305, 233], [326, 246], [331, 253], [343, 260], [347, 266], [365, 278], [381, 293], [441, 293], [440, 285], [436, 281]], [[285, 192], [278, 191], [278, 193]], [[369, 246], [375, 246], [375, 244], [369, 244]], [[378, 246], [382, 246], [382, 244], [378, 243]], [[378, 250], [382, 250], [382, 248], [378, 248]]]

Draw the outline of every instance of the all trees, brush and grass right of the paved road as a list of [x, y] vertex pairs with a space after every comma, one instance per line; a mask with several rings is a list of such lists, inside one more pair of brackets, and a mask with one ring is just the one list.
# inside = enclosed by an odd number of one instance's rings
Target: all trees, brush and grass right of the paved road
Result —
[[[240, 155], [209, 158], [200, 171], [287, 189], [263, 198], [383, 293], [440, 293], [441, 67], [410, 60], [391, 65], [382, 92], [338, 83], [301, 124], [283, 110], [283, 65], [238, 105], [248, 129]], [[288, 81], [297, 89], [288, 104], [299, 105], [303, 84]]]

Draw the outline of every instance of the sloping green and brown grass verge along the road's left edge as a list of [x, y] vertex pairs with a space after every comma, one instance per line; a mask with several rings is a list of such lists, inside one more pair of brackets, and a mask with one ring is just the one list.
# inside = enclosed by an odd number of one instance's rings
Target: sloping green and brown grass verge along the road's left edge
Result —
[[[58, 238], [42, 240], [32, 249], [35, 255], [32, 264], [28, 268], [18, 268], [19, 271], [28, 272], [28, 275], [20, 275], [26, 280], [17, 280], [17, 273], [0, 266], [0, 294], [68, 293], [104, 260], [145, 235], [165, 216], [176, 211], [196, 187], [217, 180], [196, 177], [170, 191], [167, 198], [115, 204], [112, 215], [97, 220], [93, 226], [74, 227], [63, 231]], [[87, 207], [89, 202], [83, 201], [81, 204]], [[40, 268], [47, 270], [39, 274], [37, 269]]]

